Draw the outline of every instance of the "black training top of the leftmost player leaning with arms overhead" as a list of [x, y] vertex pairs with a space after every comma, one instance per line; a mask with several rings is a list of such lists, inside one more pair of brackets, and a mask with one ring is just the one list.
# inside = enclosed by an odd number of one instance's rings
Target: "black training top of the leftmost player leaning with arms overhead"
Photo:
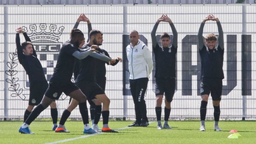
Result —
[[[23, 33], [27, 42], [31, 42], [27, 33]], [[29, 78], [29, 83], [32, 82], [44, 82], [46, 81], [43, 67], [40, 61], [37, 59], [36, 51], [33, 46], [33, 54], [24, 55], [22, 51], [22, 47], [20, 45], [20, 36], [16, 34], [16, 46], [17, 46], [17, 54], [20, 64], [26, 70], [26, 73]]]

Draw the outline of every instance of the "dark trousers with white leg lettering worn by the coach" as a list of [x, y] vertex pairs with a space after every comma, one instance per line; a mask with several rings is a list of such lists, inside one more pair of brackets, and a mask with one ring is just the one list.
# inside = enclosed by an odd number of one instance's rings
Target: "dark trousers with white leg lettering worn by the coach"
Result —
[[145, 92], [148, 86], [148, 78], [130, 79], [130, 88], [135, 106], [136, 122], [148, 122]]

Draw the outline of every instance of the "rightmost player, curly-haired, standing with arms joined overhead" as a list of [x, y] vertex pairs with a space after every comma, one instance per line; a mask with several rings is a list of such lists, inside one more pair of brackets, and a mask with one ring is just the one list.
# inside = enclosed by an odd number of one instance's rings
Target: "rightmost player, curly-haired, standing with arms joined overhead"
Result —
[[[203, 29], [206, 21], [216, 21], [219, 36], [208, 34], [203, 37]], [[217, 17], [210, 14], [202, 21], [198, 31], [198, 49], [201, 57], [201, 127], [200, 131], [205, 131], [206, 107], [211, 93], [214, 108], [214, 131], [222, 131], [218, 125], [220, 119], [220, 100], [222, 94], [223, 74], [223, 54], [224, 42], [223, 31]]]

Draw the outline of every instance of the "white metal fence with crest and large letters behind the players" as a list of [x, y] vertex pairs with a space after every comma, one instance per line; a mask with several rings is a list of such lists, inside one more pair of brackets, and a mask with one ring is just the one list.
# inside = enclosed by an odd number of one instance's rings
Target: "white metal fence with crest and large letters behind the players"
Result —
[[[198, 93], [197, 31], [207, 14], [216, 15], [225, 36], [223, 69], [222, 119], [255, 119], [256, 117], [256, 5], [0, 5], [0, 118], [22, 118], [28, 105], [28, 78], [15, 57], [15, 29], [23, 27], [33, 37], [38, 58], [47, 79], [53, 73], [58, 47], [69, 38], [79, 14], [85, 13], [93, 29], [103, 32], [103, 49], [111, 57], [122, 57], [123, 37], [133, 29], [139, 31], [149, 47], [151, 29], [162, 14], [172, 19], [178, 31], [177, 91], [170, 118], [198, 118], [201, 97]], [[78, 27], [87, 33], [86, 23]], [[157, 35], [171, 34], [167, 23], [160, 23]], [[218, 34], [214, 22], [207, 22], [204, 34]], [[87, 35], [87, 34], [86, 34]], [[21, 42], [25, 41], [21, 36]], [[123, 58], [125, 59], [125, 58]], [[106, 94], [111, 100], [110, 117], [134, 118], [131, 95], [123, 85], [125, 63], [107, 66]], [[154, 76], [151, 74], [146, 95], [148, 117], [155, 118]], [[59, 117], [68, 105], [66, 95], [57, 101]], [[164, 107], [164, 103], [163, 106]], [[206, 117], [213, 117], [211, 98]], [[50, 117], [50, 109], [39, 117]], [[70, 117], [80, 117], [78, 108]]]

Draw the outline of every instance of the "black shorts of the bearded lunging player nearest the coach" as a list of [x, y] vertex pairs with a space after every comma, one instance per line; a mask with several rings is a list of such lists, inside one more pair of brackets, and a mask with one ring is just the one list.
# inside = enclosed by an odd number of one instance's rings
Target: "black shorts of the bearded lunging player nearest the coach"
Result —
[[79, 87], [79, 89], [85, 94], [89, 103], [91, 102], [90, 100], [95, 99], [96, 95], [105, 94], [101, 87], [95, 82], [80, 81], [76, 84]]

